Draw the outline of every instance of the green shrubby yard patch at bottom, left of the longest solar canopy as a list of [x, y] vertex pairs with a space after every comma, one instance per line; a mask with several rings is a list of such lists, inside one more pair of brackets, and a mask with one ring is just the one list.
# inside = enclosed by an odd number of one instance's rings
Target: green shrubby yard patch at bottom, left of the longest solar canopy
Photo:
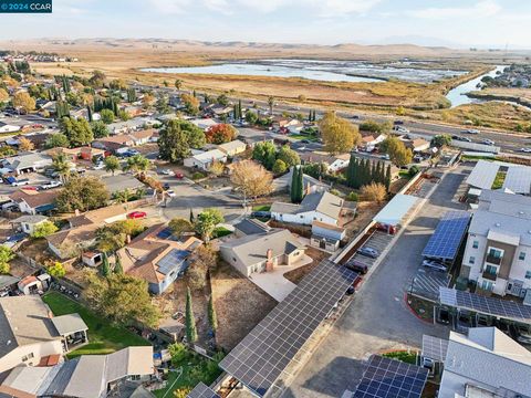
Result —
[[180, 367], [183, 368], [183, 373], [179, 370], [170, 371], [168, 374], [166, 388], [153, 391], [155, 397], [173, 398], [173, 392], [179, 388], [192, 389], [199, 381], [208, 386], [221, 375], [221, 369], [216, 366], [215, 362], [208, 360], [198, 354], [192, 355]]

